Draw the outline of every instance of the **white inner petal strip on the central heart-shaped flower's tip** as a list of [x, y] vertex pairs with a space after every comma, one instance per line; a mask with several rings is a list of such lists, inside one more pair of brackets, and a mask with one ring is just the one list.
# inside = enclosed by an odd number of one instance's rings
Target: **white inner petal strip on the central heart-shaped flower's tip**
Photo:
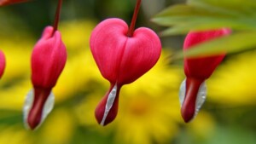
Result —
[[117, 92], [117, 84], [114, 85], [113, 89], [108, 94], [108, 100], [105, 106], [105, 112], [102, 118], [101, 125], [104, 125], [106, 118], [108, 117], [108, 112], [110, 111], [111, 107], [113, 107], [113, 101], [116, 97]]

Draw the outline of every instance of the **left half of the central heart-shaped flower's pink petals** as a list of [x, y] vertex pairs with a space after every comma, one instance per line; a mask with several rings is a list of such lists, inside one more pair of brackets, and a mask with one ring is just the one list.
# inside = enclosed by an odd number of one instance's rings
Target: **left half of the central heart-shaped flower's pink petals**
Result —
[[124, 20], [108, 19], [97, 25], [90, 36], [90, 49], [96, 64], [102, 76], [113, 84], [118, 78], [127, 31]]

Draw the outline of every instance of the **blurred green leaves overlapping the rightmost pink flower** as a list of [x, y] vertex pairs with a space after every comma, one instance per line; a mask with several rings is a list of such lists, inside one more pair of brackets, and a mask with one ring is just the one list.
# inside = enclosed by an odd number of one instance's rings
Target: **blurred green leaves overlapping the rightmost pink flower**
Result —
[[[256, 43], [256, 1], [255, 0], [189, 0], [164, 9], [152, 19], [160, 26], [168, 26], [161, 36], [185, 34], [191, 30], [203, 31], [229, 27], [230, 37], [195, 46], [185, 56], [215, 55], [253, 49]], [[181, 53], [177, 57], [181, 57]]]

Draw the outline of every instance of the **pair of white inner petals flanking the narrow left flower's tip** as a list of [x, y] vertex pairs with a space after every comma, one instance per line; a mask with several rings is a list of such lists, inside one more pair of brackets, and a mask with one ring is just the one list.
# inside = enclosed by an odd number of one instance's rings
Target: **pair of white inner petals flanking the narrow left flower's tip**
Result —
[[[26, 100], [25, 100], [25, 103], [23, 106], [23, 120], [24, 120], [25, 127], [27, 129], [29, 129], [29, 126], [27, 124], [27, 117], [32, 108], [33, 101], [34, 101], [34, 90], [32, 89], [26, 95]], [[37, 128], [44, 122], [44, 119], [47, 117], [49, 112], [51, 112], [51, 110], [53, 109], [54, 104], [55, 104], [55, 96], [53, 95], [52, 92], [50, 92], [47, 100], [44, 103], [42, 118], [41, 118], [40, 124], [38, 124]]]

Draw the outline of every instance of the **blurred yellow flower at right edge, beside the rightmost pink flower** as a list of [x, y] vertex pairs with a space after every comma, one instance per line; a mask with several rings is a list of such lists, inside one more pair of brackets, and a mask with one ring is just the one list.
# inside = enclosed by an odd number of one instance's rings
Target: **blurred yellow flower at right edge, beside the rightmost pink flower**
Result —
[[207, 81], [209, 101], [225, 106], [256, 103], [256, 52], [230, 57]]

